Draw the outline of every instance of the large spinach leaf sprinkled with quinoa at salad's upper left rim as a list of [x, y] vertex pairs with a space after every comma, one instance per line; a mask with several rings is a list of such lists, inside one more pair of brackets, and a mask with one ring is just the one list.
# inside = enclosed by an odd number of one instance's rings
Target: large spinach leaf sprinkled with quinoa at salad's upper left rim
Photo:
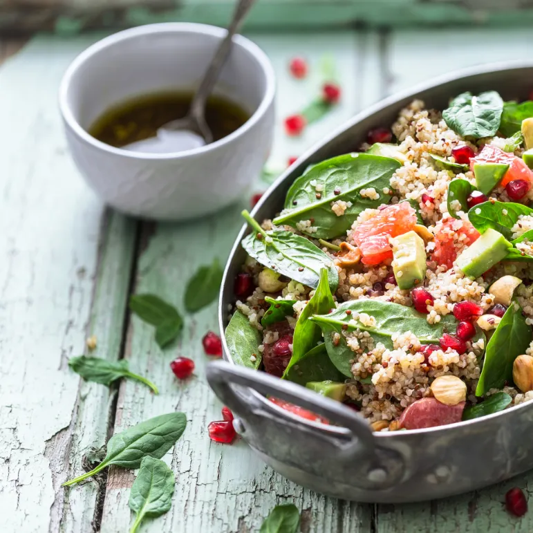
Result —
[[[286, 211], [274, 218], [274, 224], [296, 227], [299, 221], [312, 220], [317, 231], [310, 236], [315, 239], [344, 235], [364, 209], [389, 203], [391, 196], [384, 194], [383, 189], [391, 187], [391, 176], [400, 166], [395, 159], [367, 153], [347, 153], [320, 162], [291, 185], [285, 200]], [[317, 185], [322, 187], [319, 192]], [[361, 189], [368, 188], [375, 189], [377, 199], [361, 196]], [[352, 204], [342, 216], [331, 209], [331, 203], [337, 200]]]

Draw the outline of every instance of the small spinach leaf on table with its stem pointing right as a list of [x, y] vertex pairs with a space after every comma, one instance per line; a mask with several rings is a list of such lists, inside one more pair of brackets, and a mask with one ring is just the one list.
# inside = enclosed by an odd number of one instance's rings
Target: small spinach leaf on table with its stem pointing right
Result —
[[129, 377], [132, 380], [148, 385], [154, 393], [159, 393], [157, 386], [147, 380], [146, 377], [129, 371], [126, 359], [106, 361], [106, 359], [100, 359], [99, 357], [85, 357], [85, 355], [81, 355], [80, 357], [71, 357], [71, 359], [68, 359], [68, 366], [75, 373], [80, 374], [85, 381], [109, 386], [115, 380], [120, 379], [120, 377]]

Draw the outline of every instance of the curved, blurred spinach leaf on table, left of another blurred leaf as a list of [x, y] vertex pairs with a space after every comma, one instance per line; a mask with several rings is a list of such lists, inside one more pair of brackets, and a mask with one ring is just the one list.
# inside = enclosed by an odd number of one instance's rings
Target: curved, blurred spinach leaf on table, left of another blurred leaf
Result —
[[165, 348], [183, 329], [183, 319], [174, 306], [154, 294], [134, 294], [129, 308], [141, 320], [156, 326], [156, 342]]

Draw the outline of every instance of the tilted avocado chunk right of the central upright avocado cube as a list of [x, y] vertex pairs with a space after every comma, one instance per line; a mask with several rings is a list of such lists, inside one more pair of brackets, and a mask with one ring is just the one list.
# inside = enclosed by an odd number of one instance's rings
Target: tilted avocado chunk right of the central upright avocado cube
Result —
[[512, 244], [500, 232], [489, 228], [460, 253], [457, 265], [466, 276], [476, 279], [504, 259], [509, 248], [512, 248]]

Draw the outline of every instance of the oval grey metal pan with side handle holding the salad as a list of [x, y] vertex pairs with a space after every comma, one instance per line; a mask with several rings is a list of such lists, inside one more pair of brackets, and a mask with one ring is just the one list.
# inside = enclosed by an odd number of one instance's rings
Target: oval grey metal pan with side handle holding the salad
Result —
[[[369, 129], [389, 126], [414, 98], [445, 109], [464, 91], [494, 89], [504, 100], [525, 100], [533, 62], [495, 64], [459, 71], [409, 92], [389, 97], [359, 113], [305, 153], [268, 189], [252, 215], [273, 218], [286, 192], [308, 165], [354, 151]], [[225, 268], [218, 320], [223, 334], [233, 283], [245, 261], [241, 229]], [[347, 406], [266, 373], [236, 366], [223, 342], [225, 361], [207, 368], [218, 398], [236, 415], [235, 427], [272, 468], [317, 492], [362, 502], [400, 503], [442, 498], [505, 480], [533, 467], [533, 402], [449, 426], [373, 433]], [[299, 404], [337, 425], [292, 415], [265, 399], [271, 394]]]

